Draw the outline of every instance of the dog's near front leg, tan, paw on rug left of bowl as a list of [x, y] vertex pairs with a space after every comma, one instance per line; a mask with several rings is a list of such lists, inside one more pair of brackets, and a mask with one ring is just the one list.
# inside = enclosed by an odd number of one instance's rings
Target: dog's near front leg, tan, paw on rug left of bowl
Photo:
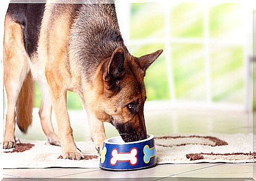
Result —
[[58, 126], [62, 156], [63, 158], [79, 160], [84, 156], [74, 143], [67, 108], [67, 90], [60, 85], [60, 80], [56, 80], [58, 76], [48, 72], [46, 73], [46, 78], [50, 87], [51, 102]]

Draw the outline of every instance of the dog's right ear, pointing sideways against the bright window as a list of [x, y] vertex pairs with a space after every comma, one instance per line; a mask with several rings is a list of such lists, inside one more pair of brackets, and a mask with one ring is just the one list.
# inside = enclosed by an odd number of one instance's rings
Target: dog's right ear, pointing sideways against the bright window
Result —
[[164, 50], [159, 49], [158, 51], [141, 56], [138, 58], [138, 63], [141, 69], [145, 72], [146, 69], [162, 54]]

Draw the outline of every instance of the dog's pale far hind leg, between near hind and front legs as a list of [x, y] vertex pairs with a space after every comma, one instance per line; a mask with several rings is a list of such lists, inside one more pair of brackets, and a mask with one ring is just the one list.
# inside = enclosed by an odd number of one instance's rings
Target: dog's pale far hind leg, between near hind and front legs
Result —
[[39, 116], [44, 134], [51, 145], [60, 146], [59, 138], [56, 136], [52, 126], [52, 104], [49, 94], [49, 87], [46, 80], [40, 80], [39, 86], [42, 92], [42, 102], [39, 109]]

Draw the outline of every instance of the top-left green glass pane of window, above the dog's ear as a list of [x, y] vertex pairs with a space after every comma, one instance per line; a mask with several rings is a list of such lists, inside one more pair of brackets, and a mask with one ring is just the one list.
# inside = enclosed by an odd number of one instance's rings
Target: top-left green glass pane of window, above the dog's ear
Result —
[[165, 11], [163, 3], [131, 4], [130, 38], [164, 37]]

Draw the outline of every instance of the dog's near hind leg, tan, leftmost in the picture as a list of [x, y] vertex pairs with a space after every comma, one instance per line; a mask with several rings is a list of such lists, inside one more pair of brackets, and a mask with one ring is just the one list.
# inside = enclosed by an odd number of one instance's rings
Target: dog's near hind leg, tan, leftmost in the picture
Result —
[[15, 106], [24, 79], [29, 72], [27, 54], [20, 24], [5, 19], [4, 34], [4, 85], [7, 95], [7, 114], [4, 135], [4, 148], [15, 147]]

